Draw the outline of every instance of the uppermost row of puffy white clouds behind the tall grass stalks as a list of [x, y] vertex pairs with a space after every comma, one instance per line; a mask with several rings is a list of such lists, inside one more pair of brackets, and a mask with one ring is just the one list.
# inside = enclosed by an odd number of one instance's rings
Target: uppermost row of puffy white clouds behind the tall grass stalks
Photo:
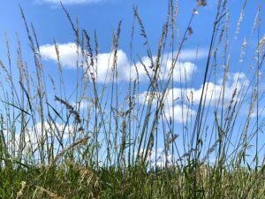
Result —
[[[54, 45], [46, 44], [42, 45], [41, 48], [42, 57], [45, 60], [52, 60], [57, 62], [57, 53]], [[77, 46], [73, 42], [58, 44], [58, 50], [60, 55], [61, 65], [66, 68], [75, 68], [77, 60], [80, 57], [77, 56]], [[80, 49], [79, 49], [80, 51]], [[109, 82], [111, 80], [111, 68], [114, 59], [114, 53], [100, 53], [97, 57], [98, 60], [98, 70], [97, 70], [97, 80], [98, 82]], [[197, 57], [205, 57], [205, 50], [201, 50]], [[181, 60], [185, 62], [177, 62], [173, 70], [173, 79], [176, 82], [191, 80], [194, 71], [197, 67], [187, 60], [193, 60], [196, 57], [196, 50], [183, 50], [181, 53]], [[155, 60], [156, 57], [153, 57]], [[168, 74], [171, 71], [171, 61], [170, 55], [163, 55], [161, 62], [161, 70], [159, 73], [160, 80], [167, 80]], [[153, 70], [151, 69], [151, 61], [149, 57], [141, 57], [135, 65], [130, 65], [130, 60], [123, 50], [117, 50], [117, 79], [129, 81], [130, 78], [135, 80], [139, 78], [141, 81], [148, 80], [148, 75], [152, 77]], [[136, 71], [137, 70], [137, 71]]]

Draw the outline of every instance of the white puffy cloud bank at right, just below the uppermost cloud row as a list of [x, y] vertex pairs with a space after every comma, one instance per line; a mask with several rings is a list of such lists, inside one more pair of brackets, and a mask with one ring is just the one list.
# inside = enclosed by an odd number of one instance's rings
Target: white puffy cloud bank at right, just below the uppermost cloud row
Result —
[[[246, 87], [248, 80], [245, 73], [229, 74], [228, 80], [224, 87], [223, 95], [223, 80], [218, 80], [217, 83], [206, 82], [203, 99], [205, 98], [206, 105], [214, 105], [219, 98], [223, 97], [224, 103], [229, 103], [233, 95], [238, 95], [240, 88]], [[236, 92], [235, 92], [236, 90]], [[198, 105], [202, 95], [202, 85], [200, 88], [170, 88], [166, 91], [164, 102], [164, 112], [166, 119], [174, 119], [178, 123], [186, 123], [191, 119], [196, 112], [192, 110], [192, 104]], [[140, 103], [147, 104], [149, 98], [153, 98], [153, 105], [161, 99], [162, 93], [147, 91], [139, 95]], [[182, 103], [180, 103], [182, 102]]]

